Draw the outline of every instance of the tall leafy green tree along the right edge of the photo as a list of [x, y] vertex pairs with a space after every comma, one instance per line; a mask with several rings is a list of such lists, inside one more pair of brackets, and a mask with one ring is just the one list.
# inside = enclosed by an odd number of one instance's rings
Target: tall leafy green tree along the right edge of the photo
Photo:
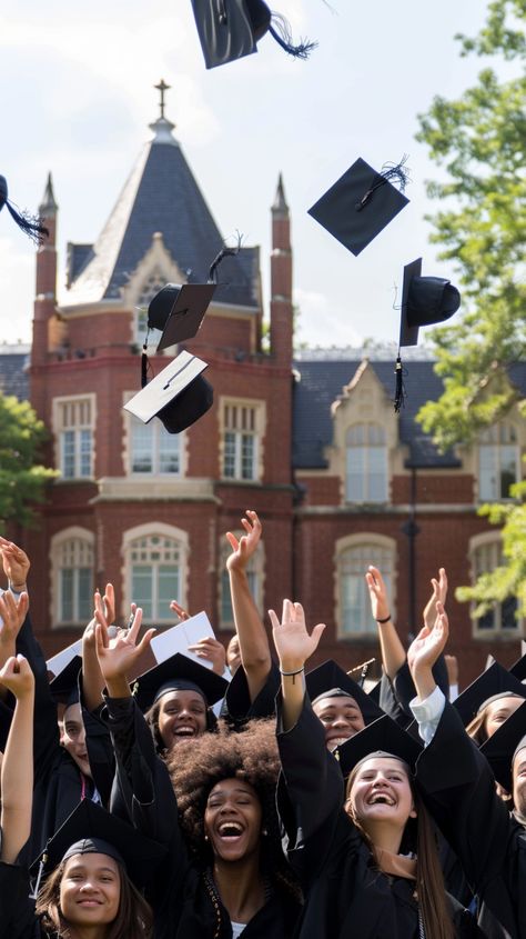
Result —
[[[442, 450], [473, 442], [479, 432], [526, 400], [513, 367], [526, 351], [526, 0], [493, 0], [475, 38], [457, 37], [462, 54], [489, 57], [477, 83], [456, 101], [436, 97], [419, 117], [418, 140], [444, 168], [428, 183], [441, 201], [431, 221], [439, 257], [462, 284], [462, 317], [435, 330], [436, 371], [444, 393], [425, 404], [424, 429]], [[492, 64], [499, 61], [499, 74]], [[505, 78], [503, 78], [505, 73]], [[510, 380], [512, 377], [512, 380]], [[476, 600], [476, 615], [516, 595], [526, 615], [526, 486], [513, 503], [484, 506], [503, 526], [505, 565], [458, 596]]]

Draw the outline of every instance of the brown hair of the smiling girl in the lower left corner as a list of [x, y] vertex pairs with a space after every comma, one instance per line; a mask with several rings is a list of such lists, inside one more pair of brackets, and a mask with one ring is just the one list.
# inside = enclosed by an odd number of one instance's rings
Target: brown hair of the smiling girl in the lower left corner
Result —
[[[107, 939], [152, 939], [152, 910], [128, 877], [122, 865], [117, 865], [120, 880], [120, 899], [117, 917], [109, 923]], [[70, 927], [60, 909], [60, 883], [65, 861], [48, 877], [37, 898], [36, 911], [44, 929], [70, 939]]]

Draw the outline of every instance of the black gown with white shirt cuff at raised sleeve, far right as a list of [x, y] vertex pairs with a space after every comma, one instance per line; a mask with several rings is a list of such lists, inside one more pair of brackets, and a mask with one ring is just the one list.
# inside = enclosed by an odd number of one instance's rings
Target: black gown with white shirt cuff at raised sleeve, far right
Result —
[[490, 939], [526, 939], [526, 830], [495, 791], [490, 767], [446, 702], [416, 779], [478, 898]]

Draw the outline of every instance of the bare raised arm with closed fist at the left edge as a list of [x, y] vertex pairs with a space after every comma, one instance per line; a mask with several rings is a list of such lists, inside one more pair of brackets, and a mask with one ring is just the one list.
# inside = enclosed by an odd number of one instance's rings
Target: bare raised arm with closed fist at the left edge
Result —
[[27, 659], [10, 658], [0, 671], [0, 683], [17, 700], [1, 770], [0, 859], [14, 863], [31, 832], [34, 677]]

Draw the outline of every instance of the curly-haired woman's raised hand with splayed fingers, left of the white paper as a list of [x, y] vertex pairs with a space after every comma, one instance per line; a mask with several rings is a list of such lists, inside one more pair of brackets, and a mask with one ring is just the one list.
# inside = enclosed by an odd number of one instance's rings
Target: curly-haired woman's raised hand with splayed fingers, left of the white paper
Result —
[[108, 690], [112, 697], [127, 697], [130, 691], [128, 675], [132, 672], [136, 660], [152, 641], [155, 630], [148, 629], [138, 643], [136, 639], [142, 622], [142, 610], [138, 607], [130, 629], [119, 630], [110, 642], [104, 617], [97, 608], [95, 618], [97, 658]]

